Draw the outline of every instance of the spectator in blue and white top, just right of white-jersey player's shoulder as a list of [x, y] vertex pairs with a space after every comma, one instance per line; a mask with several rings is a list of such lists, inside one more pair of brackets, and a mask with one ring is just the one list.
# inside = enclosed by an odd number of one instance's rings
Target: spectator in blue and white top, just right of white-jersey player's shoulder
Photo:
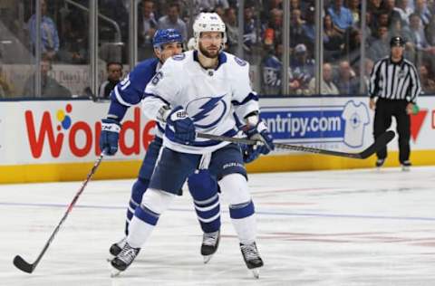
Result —
[[281, 94], [283, 44], [275, 43], [275, 46], [270, 47], [268, 51], [262, 63], [263, 92], [266, 94]]

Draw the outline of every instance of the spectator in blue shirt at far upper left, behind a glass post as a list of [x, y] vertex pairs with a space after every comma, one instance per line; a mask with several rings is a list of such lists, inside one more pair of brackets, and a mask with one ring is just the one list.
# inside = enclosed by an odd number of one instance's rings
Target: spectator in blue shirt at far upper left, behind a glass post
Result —
[[[33, 14], [28, 22], [30, 33], [30, 40], [32, 42], [32, 49], [36, 43], [36, 14]], [[57, 52], [59, 52], [59, 35], [57, 33], [56, 24], [52, 18], [47, 16], [47, 4], [45, 0], [41, 1], [41, 52], [46, 54], [50, 59], [54, 59]]]

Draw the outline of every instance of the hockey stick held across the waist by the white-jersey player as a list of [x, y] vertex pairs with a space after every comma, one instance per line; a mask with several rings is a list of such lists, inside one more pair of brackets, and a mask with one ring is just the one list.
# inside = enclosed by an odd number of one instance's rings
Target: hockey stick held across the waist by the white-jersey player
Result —
[[[212, 135], [212, 134], [205, 134], [205, 133], [197, 133], [198, 138], [208, 138], [212, 140], [218, 140], [218, 141], [229, 141], [237, 144], [247, 144], [247, 145], [256, 145], [259, 141], [251, 140], [247, 138], [232, 138], [232, 137], [224, 137], [224, 136], [218, 136], [218, 135]], [[330, 156], [336, 156], [336, 157], [351, 157], [355, 159], [365, 159], [367, 157], [371, 157], [372, 154], [374, 154], [376, 151], [378, 151], [381, 148], [384, 148], [388, 142], [390, 142], [394, 138], [394, 131], [387, 131], [383, 133], [379, 138], [376, 138], [376, 140], [372, 143], [371, 146], [364, 149], [362, 152], [359, 153], [347, 153], [347, 152], [340, 152], [340, 151], [333, 151], [333, 150], [325, 150], [320, 148], [311, 148], [311, 147], [304, 147], [304, 146], [296, 146], [296, 145], [290, 145], [290, 144], [283, 144], [283, 143], [275, 143], [275, 148], [281, 148], [281, 149], [288, 149], [288, 150], [294, 150], [294, 151], [300, 151], [300, 152], [308, 152], [308, 153], [316, 153], [316, 154], [323, 154], [323, 155], [330, 155]]]

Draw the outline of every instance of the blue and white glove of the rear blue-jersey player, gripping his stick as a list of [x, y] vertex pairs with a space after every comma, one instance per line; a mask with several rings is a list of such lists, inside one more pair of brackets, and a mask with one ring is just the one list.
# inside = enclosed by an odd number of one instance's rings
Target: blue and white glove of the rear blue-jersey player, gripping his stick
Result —
[[113, 156], [118, 151], [121, 123], [115, 119], [102, 119], [102, 133], [100, 134], [100, 149], [106, 155]]

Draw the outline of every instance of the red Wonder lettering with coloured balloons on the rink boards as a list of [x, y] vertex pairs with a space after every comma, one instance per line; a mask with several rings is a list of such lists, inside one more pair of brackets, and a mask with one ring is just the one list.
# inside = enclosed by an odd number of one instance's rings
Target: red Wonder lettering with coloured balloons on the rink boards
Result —
[[[125, 120], [120, 132], [119, 152], [125, 156], [140, 154], [140, 147], [148, 149], [150, 142], [154, 139], [151, 130], [155, 128], [156, 123], [148, 121], [141, 129], [140, 109], [135, 108], [133, 112], [133, 119]], [[72, 113], [73, 106], [71, 104], [66, 104], [64, 110], [57, 110], [55, 119], [58, 123], [55, 125], [50, 111], [43, 111], [40, 118], [35, 118], [33, 110], [25, 110], [27, 138], [34, 158], [41, 157], [44, 148], [49, 149], [52, 157], [59, 157], [63, 150], [75, 157], [87, 156], [91, 154], [92, 149], [95, 155], [101, 153], [99, 147], [102, 131], [101, 122], [99, 120], [92, 123], [81, 120], [74, 121]], [[53, 125], [55, 125], [56, 130], [54, 130]]]

